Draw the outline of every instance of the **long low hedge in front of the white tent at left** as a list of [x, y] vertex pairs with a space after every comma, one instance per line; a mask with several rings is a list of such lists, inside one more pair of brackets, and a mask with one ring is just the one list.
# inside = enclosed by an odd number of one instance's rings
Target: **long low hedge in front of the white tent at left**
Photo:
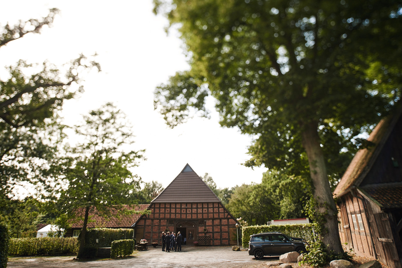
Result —
[[75, 255], [80, 247], [75, 237], [11, 238], [9, 255]]

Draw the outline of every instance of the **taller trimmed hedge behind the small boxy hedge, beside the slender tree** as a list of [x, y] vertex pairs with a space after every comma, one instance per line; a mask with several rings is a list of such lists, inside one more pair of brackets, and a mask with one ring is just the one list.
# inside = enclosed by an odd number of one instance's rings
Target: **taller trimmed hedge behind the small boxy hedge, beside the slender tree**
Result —
[[[81, 233], [80, 233], [81, 235]], [[133, 239], [133, 229], [91, 228], [85, 234], [85, 246], [96, 248], [108, 248], [115, 240]], [[80, 239], [80, 236], [78, 237]], [[96, 243], [98, 239], [98, 243]]]

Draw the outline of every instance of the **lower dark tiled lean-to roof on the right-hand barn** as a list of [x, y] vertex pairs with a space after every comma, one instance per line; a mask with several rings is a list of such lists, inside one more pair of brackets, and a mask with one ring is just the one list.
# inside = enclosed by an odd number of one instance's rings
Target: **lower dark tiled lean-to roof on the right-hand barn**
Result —
[[384, 209], [402, 208], [402, 183], [371, 184], [362, 189]]

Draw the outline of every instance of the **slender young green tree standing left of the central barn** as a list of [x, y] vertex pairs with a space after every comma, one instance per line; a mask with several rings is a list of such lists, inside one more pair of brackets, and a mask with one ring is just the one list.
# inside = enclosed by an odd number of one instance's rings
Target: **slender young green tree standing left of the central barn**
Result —
[[84, 253], [84, 241], [91, 207], [108, 215], [113, 205], [122, 205], [139, 190], [140, 179], [131, 170], [143, 158], [133, 150], [133, 129], [125, 115], [108, 103], [84, 116], [74, 127], [76, 144], [66, 146], [66, 157], [58, 186], [57, 208], [62, 217], [74, 219], [84, 208], [78, 258]]

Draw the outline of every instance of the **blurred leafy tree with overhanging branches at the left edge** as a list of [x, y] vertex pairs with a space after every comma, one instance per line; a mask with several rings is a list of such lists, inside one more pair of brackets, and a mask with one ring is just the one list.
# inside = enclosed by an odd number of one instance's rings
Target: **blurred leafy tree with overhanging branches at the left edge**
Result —
[[[26, 34], [40, 33], [51, 26], [57, 13], [54, 8], [44, 18], [1, 27], [0, 49]], [[47, 185], [51, 171], [46, 162], [55, 153], [50, 140], [59, 133], [58, 112], [64, 100], [83, 91], [81, 74], [93, 67], [100, 70], [98, 63], [84, 55], [66, 64], [65, 70], [48, 61], [40, 65], [19, 60], [6, 66], [8, 75], [0, 78], [0, 201], [27, 183], [39, 190]]]

